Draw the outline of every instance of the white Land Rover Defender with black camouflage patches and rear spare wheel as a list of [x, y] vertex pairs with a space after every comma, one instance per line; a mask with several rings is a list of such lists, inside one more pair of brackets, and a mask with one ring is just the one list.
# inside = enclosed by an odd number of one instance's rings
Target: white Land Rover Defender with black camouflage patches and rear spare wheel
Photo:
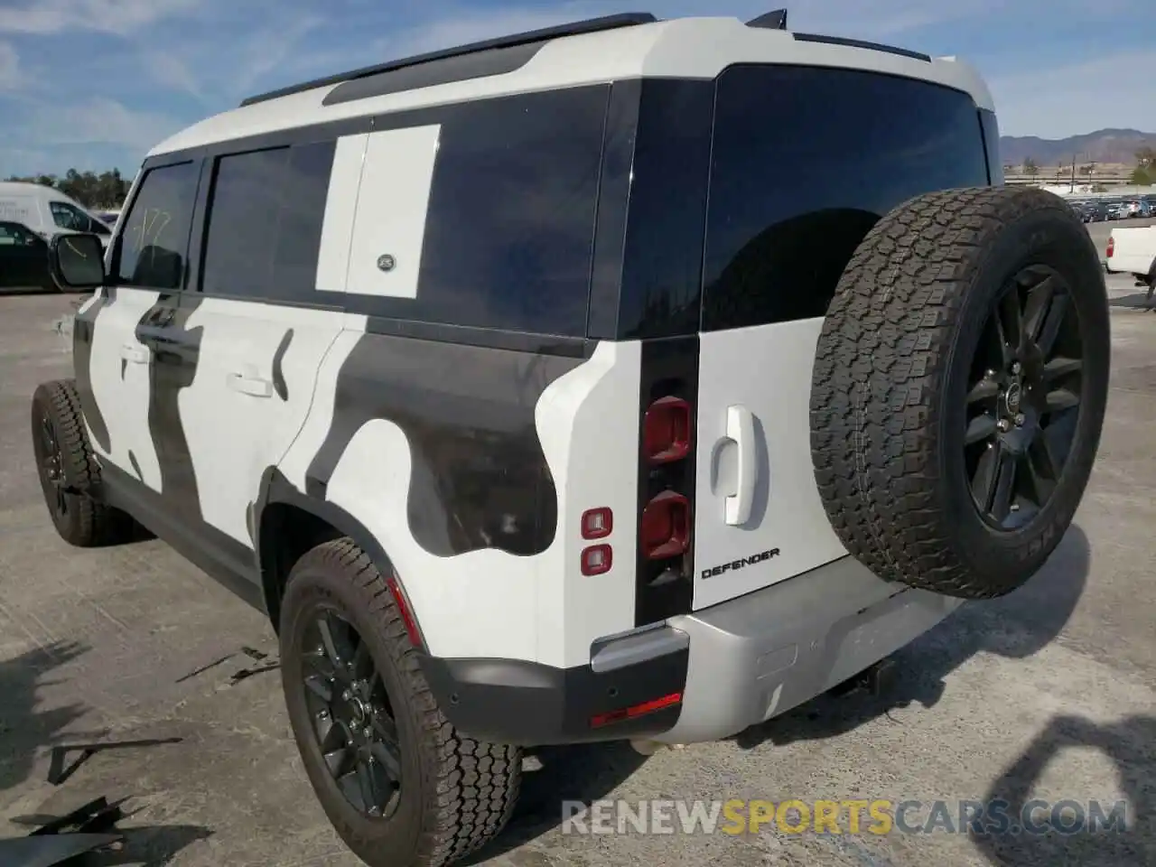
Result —
[[1095, 458], [1103, 271], [954, 59], [616, 15], [247, 99], [54, 243], [57, 529], [268, 612], [372, 865], [527, 746], [695, 742], [1025, 581]]

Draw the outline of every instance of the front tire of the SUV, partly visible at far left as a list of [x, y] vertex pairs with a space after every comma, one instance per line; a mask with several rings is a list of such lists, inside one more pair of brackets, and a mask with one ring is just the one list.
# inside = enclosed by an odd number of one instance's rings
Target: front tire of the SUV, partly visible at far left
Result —
[[[57, 491], [44, 465], [46, 455], [42, 453], [39, 437], [45, 421], [52, 425], [59, 447], [65, 484], [64, 512], [55, 506]], [[57, 379], [37, 386], [32, 394], [31, 425], [40, 489], [61, 539], [79, 548], [96, 548], [147, 535], [129, 514], [101, 501], [101, 465], [88, 442], [74, 380]]]

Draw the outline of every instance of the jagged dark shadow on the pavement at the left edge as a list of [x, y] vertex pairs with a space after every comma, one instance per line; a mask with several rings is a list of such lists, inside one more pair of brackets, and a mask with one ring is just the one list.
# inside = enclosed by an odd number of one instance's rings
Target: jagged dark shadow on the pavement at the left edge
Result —
[[75, 642], [57, 642], [0, 662], [0, 792], [28, 779], [37, 751], [86, 711], [82, 704], [39, 710], [44, 677], [87, 652]]

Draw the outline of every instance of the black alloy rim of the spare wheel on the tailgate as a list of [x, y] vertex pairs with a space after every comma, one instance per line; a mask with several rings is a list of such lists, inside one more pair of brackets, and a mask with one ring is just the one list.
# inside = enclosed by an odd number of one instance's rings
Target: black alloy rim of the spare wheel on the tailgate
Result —
[[1083, 343], [1065, 279], [1023, 268], [996, 296], [972, 363], [964, 459], [984, 520], [1014, 531], [1048, 503], [1080, 420]]

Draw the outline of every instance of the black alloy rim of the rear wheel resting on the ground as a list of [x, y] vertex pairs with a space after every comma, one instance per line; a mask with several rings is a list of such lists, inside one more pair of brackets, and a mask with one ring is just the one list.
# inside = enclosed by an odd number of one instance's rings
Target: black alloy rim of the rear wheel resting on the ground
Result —
[[305, 704], [329, 775], [355, 810], [388, 818], [401, 795], [401, 744], [369, 646], [336, 609], [323, 606], [303, 642]]

